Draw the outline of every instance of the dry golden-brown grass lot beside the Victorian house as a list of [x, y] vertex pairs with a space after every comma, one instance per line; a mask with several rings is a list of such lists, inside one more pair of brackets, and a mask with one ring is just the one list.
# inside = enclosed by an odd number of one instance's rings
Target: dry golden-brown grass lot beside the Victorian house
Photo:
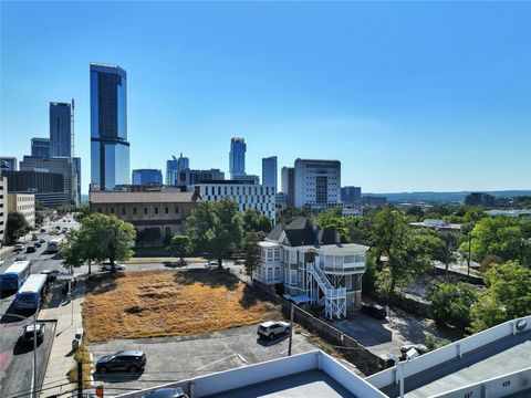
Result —
[[93, 275], [83, 304], [88, 342], [211, 333], [280, 317], [280, 307], [217, 270]]

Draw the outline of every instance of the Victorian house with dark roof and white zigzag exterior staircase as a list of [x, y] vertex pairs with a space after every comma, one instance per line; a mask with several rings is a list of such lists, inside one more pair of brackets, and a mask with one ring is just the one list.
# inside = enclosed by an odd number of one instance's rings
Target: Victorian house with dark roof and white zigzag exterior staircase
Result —
[[278, 224], [260, 242], [253, 277], [267, 285], [283, 284], [284, 297], [324, 306], [330, 318], [346, 316], [362, 304], [362, 275], [368, 247], [339, 243], [330, 229], [316, 229], [300, 217]]

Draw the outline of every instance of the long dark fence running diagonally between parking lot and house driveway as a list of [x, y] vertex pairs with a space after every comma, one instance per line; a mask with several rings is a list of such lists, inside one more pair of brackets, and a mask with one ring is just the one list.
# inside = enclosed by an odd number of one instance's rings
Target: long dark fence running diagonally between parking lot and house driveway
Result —
[[[249, 282], [248, 282], [249, 283]], [[296, 306], [292, 302], [279, 296], [274, 291], [257, 281], [251, 282], [252, 286], [262, 292], [264, 296], [275, 304], [282, 306], [282, 312], [288, 317], [293, 305], [293, 321], [310, 332], [317, 334], [327, 343], [336, 346], [343, 357], [354, 364], [366, 376], [373, 375], [386, 368], [385, 359], [371, 353], [367, 348], [356, 342], [354, 338], [345, 335], [324, 321], [321, 321]]]

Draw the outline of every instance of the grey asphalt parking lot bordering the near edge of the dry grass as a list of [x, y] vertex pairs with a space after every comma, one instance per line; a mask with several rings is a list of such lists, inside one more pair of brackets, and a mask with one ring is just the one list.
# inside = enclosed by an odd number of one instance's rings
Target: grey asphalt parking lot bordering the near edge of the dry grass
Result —
[[[206, 335], [157, 337], [143, 339], [114, 339], [92, 343], [90, 352], [94, 363], [104, 355], [123, 349], [146, 353], [147, 364], [142, 374], [95, 374], [105, 383], [106, 394], [117, 395], [165, 383], [227, 370], [288, 355], [289, 338], [274, 341], [258, 338], [257, 325], [237, 327]], [[293, 334], [292, 354], [316, 349], [303, 335]]]

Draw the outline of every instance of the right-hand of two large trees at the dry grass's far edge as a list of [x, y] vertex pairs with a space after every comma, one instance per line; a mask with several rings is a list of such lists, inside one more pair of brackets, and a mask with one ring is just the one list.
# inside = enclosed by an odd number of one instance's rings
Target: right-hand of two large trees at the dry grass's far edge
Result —
[[243, 222], [238, 203], [228, 198], [198, 203], [186, 224], [194, 251], [216, 255], [219, 269], [223, 255], [243, 247]]

